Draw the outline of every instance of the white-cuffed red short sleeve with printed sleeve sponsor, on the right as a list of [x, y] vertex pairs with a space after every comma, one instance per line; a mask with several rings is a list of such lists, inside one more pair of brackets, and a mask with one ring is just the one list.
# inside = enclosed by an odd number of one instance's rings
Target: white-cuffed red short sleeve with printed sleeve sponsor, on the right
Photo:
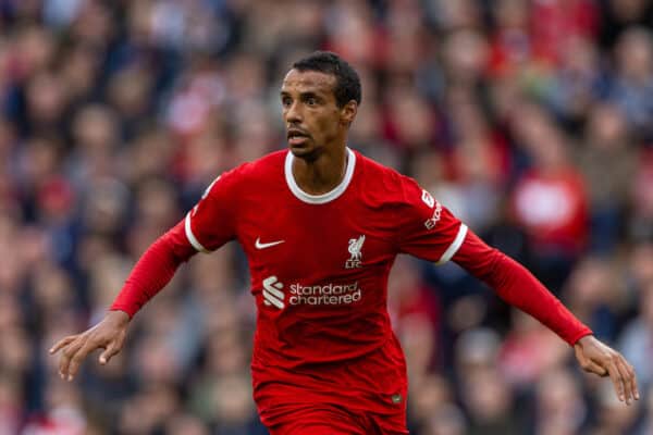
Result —
[[398, 250], [443, 264], [449, 261], [467, 235], [467, 226], [409, 177], [402, 177]]

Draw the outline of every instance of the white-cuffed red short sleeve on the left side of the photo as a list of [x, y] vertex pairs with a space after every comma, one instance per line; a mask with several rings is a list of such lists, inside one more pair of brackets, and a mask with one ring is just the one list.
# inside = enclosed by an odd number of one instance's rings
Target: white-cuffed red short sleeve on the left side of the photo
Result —
[[186, 237], [198, 251], [213, 251], [236, 237], [237, 177], [233, 170], [215, 178], [186, 214]]

